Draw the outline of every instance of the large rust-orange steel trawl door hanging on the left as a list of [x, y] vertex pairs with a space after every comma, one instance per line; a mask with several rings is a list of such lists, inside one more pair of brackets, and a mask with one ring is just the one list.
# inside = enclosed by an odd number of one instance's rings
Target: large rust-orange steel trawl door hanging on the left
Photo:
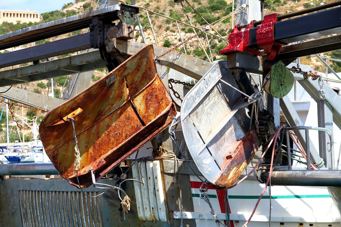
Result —
[[[73, 115], [74, 114], [74, 115]], [[148, 45], [74, 98], [51, 110], [39, 128], [47, 156], [75, 186], [74, 117], [80, 151], [78, 178], [91, 185], [89, 168], [99, 179], [146, 144], [172, 121], [176, 110], [156, 72]]]

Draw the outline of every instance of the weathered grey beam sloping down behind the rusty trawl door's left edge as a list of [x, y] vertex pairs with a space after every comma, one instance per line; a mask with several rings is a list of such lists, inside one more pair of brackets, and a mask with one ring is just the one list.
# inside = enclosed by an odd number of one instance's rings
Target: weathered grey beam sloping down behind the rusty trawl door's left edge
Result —
[[[9, 86], [1, 87], [0, 92], [4, 92], [9, 88]], [[37, 94], [34, 92], [26, 91], [16, 87], [12, 87], [6, 93], [0, 93], [0, 97], [11, 99], [23, 103], [27, 106], [38, 107], [41, 109], [52, 110], [53, 108], [59, 106], [64, 100], [53, 98], [50, 96]]]

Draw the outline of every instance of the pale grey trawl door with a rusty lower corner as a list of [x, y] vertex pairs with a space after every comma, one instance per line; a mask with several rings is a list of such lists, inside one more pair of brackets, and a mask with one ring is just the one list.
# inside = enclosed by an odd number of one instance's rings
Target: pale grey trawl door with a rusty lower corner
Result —
[[231, 186], [257, 151], [260, 141], [249, 131], [248, 106], [226, 61], [219, 61], [187, 93], [181, 126], [194, 163], [216, 188]]

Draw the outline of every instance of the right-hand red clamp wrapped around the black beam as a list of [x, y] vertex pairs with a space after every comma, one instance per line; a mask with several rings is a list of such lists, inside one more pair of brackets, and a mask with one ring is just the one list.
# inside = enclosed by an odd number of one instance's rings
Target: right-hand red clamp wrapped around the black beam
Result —
[[275, 59], [282, 48], [282, 44], [275, 43], [275, 22], [277, 22], [276, 13], [264, 16], [264, 21], [257, 26], [256, 33], [257, 45], [262, 46], [270, 61]]

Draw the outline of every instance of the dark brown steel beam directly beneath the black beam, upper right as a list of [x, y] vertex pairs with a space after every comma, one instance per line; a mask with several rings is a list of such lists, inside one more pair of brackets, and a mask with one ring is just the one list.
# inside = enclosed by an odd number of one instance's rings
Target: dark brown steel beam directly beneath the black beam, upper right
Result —
[[310, 54], [317, 54], [337, 49], [341, 49], [341, 35], [333, 35], [330, 37], [283, 46], [276, 59], [285, 60], [299, 58]]

